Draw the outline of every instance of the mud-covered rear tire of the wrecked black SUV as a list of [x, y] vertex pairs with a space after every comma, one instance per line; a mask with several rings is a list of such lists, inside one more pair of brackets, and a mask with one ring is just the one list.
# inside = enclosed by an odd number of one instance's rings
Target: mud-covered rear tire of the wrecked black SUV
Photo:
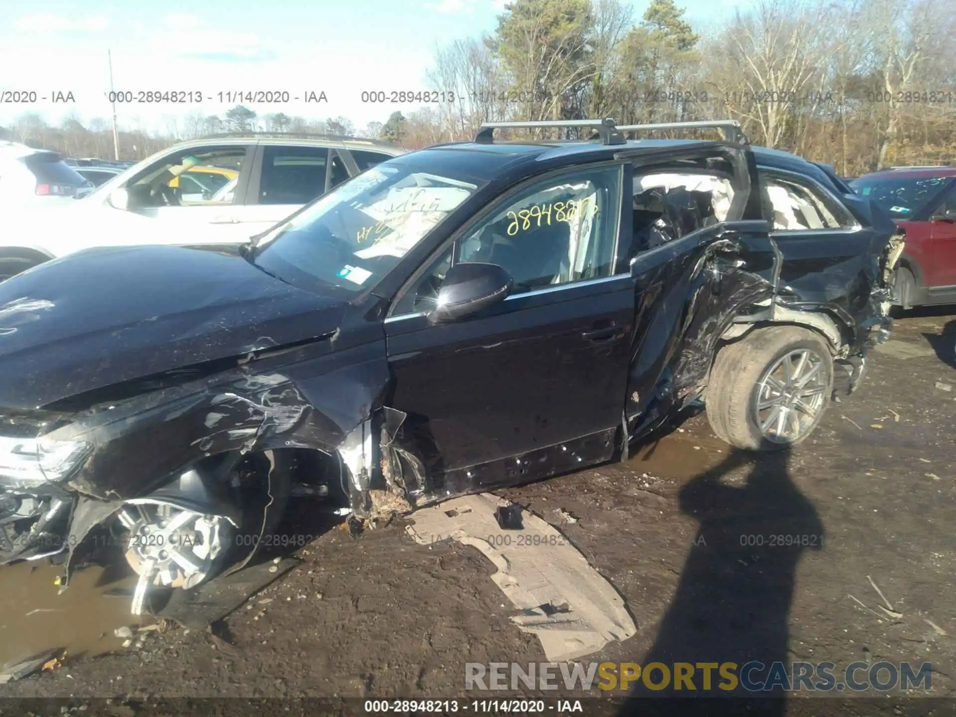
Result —
[[[808, 402], [815, 405], [815, 415], [811, 419], [804, 411], [794, 412], [798, 425], [802, 426], [794, 438], [769, 436], [758, 423], [760, 418], [767, 421], [773, 410], [765, 409], [767, 413], [762, 414], [757, 409], [761, 381], [778, 361], [788, 354], [793, 356], [803, 351], [808, 352], [810, 366], [818, 363], [812, 386], [816, 395], [808, 398]], [[817, 361], [812, 359], [814, 356]], [[746, 337], [717, 352], [706, 389], [707, 421], [714, 433], [729, 445], [746, 450], [788, 448], [806, 439], [819, 424], [833, 394], [833, 382], [833, 355], [830, 346], [819, 334], [797, 326], [754, 329]], [[809, 392], [811, 388], [805, 390]], [[807, 403], [804, 405], [810, 407]], [[784, 413], [789, 417], [789, 413]], [[801, 424], [801, 421], [806, 425]], [[791, 429], [790, 424], [787, 429]]]

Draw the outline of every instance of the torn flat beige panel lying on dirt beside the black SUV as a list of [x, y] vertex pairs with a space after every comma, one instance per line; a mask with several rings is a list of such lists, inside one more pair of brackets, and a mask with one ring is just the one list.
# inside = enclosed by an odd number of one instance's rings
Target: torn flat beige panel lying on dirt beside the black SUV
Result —
[[590, 655], [637, 632], [624, 600], [554, 526], [525, 511], [520, 531], [496, 513], [511, 504], [491, 493], [416, 511], [405, 530], [421, 545], [452, 538], [477, 548], [498, 569], [491, 579], [519, 611], [511, 620], [536, 635], [549, 662]]

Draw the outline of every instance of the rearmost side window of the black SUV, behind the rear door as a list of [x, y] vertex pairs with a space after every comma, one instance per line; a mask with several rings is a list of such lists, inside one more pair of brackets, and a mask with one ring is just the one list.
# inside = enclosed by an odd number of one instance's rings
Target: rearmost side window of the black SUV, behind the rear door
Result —
[[764, 173], [764, 204], [774, 231], [852, 228], [855, 222], [836, 200], [810, 182]]

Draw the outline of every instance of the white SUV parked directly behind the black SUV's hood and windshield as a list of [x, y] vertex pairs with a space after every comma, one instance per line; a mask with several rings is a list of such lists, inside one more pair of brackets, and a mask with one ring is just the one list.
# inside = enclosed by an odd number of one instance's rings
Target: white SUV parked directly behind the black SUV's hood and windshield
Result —
[[[403, 153], [380, 141], [328, 135], [228, 134], [181, 142], [80, 201], [11, 210], [0, 238], [0, 281], [92, 247], [240, 244]], [[204, 177], [217, 178], [218, 189], [196, 189]]]

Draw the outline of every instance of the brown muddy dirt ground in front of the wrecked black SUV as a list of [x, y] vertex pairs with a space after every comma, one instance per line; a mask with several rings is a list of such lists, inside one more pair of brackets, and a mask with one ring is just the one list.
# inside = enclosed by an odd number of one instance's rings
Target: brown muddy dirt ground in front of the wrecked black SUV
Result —
[[[626, 464], [503, 491], [551, 522], [575, 516], [561, 530], [625, 598], [638, 634], [589, 660], [930, 662], [931, 694], [956, 697], [954, 344], [956, 315], [898, 320], [858, 393], [790, 455], [731, 453], [696, 416]], [[780, 532], [822, 535], [821, 549], [738, 539]], [[45, 568], [0, 569], [6, 656], [38, 618], [69, 635], [32, 630], [33, 647], [72, 645], [0, 697], [462, 697], [467, 661], [545, 660], [473, 548], [417, 545], [396, 522], [358, 540], [331, 530], [298, 555], [214, 635], [172, 629], [125, 648], [112, 629], [129, 622], [127, 599], [73, 597], [77, 613]], [[69, 625], [49, 621], [71, 609]]]

